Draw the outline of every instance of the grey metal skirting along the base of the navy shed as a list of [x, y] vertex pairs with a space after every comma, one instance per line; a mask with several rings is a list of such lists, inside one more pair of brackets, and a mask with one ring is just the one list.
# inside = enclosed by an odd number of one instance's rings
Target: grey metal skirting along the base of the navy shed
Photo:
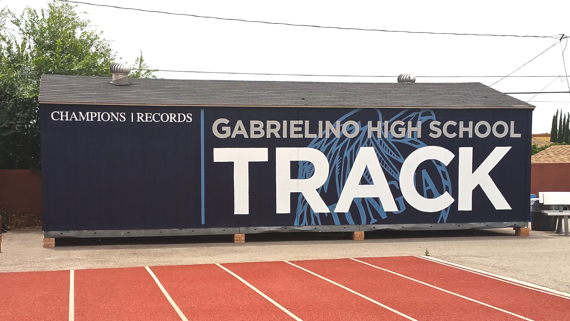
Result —
[[528, 222], [483, 222], [439, 224], [370, 224], [370, 225], [309, 225], [309, 226], [254, 226], [254, 227], [199, 227], [196, 229], [151, 230], [78, 230], [44, 231], [45, 238], [59, 237], [152, 237], [180, 235], [253, 234], [268, 232], [353, 232], [374, 230], [464, 230], [528, 227]]

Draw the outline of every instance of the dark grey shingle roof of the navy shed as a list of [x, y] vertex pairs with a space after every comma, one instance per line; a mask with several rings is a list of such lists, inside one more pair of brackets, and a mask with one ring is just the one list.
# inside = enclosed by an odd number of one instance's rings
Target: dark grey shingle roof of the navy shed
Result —
[[326, 83], [43, 75], [40, 103], [534, 108], [482, 83]]

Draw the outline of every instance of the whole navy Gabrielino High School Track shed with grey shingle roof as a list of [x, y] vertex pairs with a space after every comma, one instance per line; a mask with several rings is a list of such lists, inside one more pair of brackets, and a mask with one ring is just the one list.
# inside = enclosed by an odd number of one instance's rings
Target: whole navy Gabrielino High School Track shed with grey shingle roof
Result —
[[526, 227], [533, 105], [481, 83], [44, 75], [46, 238]]

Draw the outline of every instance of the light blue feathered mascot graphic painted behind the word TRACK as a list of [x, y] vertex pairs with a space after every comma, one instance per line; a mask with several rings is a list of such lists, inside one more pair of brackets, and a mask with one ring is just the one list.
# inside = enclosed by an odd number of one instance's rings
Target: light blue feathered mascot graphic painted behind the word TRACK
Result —
[[[381, 110], [379, 108], [373, 108], [372, 110], [377, 114], [378, 121], [382, 122], [384, 119], [382, 119]], [[413, 132], [412, 137], [407, 137], [406, 135], [398, 138], [394, 137], [392, 133], [390, 133], [388, 137], [378, 138], [375, 137], [377, 135], [372, 135], [372, 137], [368, 138], [368, 123], [362, 124], [361, 121], [358, 120], [363, 118], [370, 119], [369, 116], [363, 117], [364, 113], [368, 113], [369, 115], [370, 108], [354, 109], [338, 119], [341, 123], [348, 120], [356, 121], [360, 127], [360, 133], [356, 137], [349, 138], [345, 135], [336, 137], [335, 135], [331, 135], [331, 137], [327, 138], [324, 137], [325, 135], [323, 132], [323, 135], [321, 135], [323, 136], [322, 138], [317, 137], [308, 145], [310, 148], [315, 148], [323, 152], [329, 161], [329, 176], [327, 181], [317, 190], [317, 192], [321, 197], [323, 197], [325, 202], [327, 202], [327, 195], [331, 196], [331, 199], [334, 198], [335, 200], [338, 200], [359, 149], [361, 147], [373, 147], [376, 151], [378, 161], [380, 161], [380, 165], [385, 171], [386, 180], [388, 180], [388, 185], [390, 186], [390, 190], [392, 190], [392, 194], [394, 195], [394, 199], [396, 200], [396, 204], [399, 209], [397, 212], [392, 213], [402, 213], [406, 209], [406, 205], [404, 197], [400, 192], [400, 186], [398, 185], [400, 168], [405, 160], [401, 151], [408, 150], [409, 152], [406, 153], [406, 155], [409, 155], [409, 153], [414, 149], [425, 147], [426, 144], [422, 143], [422, 141], [417, 138], [417, 132]], [[373, 120], [372, 124], [376, 124], [374, 119], [370, 120]], [[404, 109], [404, 111], [401, 111], [396, 116], [388, 119], [390, 124], [397, 120], [404, 121], [406, 124], [408, 121], [412, 121], [412, 124], [417, 124], [416, 121], [421, 121], [423, 124], [426, 124], [427, 120], [435, 120], [435, 113], [431, 109]], [[348, 129], [348, 131], [350, 130], [351, 129]], [[445, 165], [437, 160], [431, 160], [431, 162], [439, 174], [441, 183], [438, 182], [438, 185], [441, 186], [439, 187], [440, 190], [438, 190], [427, 170], [422, 169], [421, 173], [416, 173], [416, 177], [418, 177], [418, 174], [421, 176], [424, 197], [429, 198], [431, 196], [435, 198], [445, 192], [451, 194], [451, 182]], [[314, 169], [314, 166], [310, 162], [300, 161], [298, 179], [311, 177]], [[433, 173], [433, 170], [431, 170], [431, 172]], [[361, 181], [361, 183], [365, 182], [366, 184], [373, 184], [372, 177], [370, 177], [368, 169], [364, 172], [363, 180], [364, 181]], [[331, 213], [315, 213], [308, 205], [303, 194], [299, 194], [294, 224], [296, 226], [321, 225], [321, 214], [324, 214], [325, 216], [331, 214], [336, 225], [341, 225], [339, 214], [344, 214], [345, 216], [346, 221], [342, 224], [375, 224], [378, 220], [387, 217], [379, 198], [355, 198], [353, 201], [356, 204], [358, 216], [351, 212], [333, 212], [336, 207], [336, 203], [328, 206]], [[449, 209], [450, 208], [447, 207], [446, 209], [441, 210], [438, 222], [447, 221]], [[358, 220], [359, 217], [360, 220]]]

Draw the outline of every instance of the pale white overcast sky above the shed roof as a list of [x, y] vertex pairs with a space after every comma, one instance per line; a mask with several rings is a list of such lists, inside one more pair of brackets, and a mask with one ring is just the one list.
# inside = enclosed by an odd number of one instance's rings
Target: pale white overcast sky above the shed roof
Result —
[[[570, 1], [145, 1], [83, 0], [270, 22], [363, 29], [514, 35], [570, 34]], [[20, 12], [40, 9], [44, 0], [0, 0]], [[132, 63], [139, 50], [163, 70], [255, 72], [270, 74], [393, 75], [412, 73], [417, 82], [482, 82], [499, 78], [421, 76], [504, 76], [555, 43], [553, 38], [405, 34], [314, 27], [266, 25], [182, 17], [78, 5], [103, 36], [112, 40], [121, 61]], [[513, 75], [565, 75], [562, 49], [550, 48]], [[570, 72], [570, 46], [565, 52]], [[162, 78], [396, 82], [393, 78], [261, 76], [158, 72]], [[564, 81], [562, 81], [564, 80]], [[552, 82], [552, 83], [551, 83]], [[565, 79], [506, 78], [492, 87], [503, 92], [568, 91]], [[534, 95], [513, 95], [527, 101]], [[553, 101], [563, 101], [561, 103]], [[570, 112], [570, 94], [540, 94], [533, 133], [549, 132], [556, 108]]]

